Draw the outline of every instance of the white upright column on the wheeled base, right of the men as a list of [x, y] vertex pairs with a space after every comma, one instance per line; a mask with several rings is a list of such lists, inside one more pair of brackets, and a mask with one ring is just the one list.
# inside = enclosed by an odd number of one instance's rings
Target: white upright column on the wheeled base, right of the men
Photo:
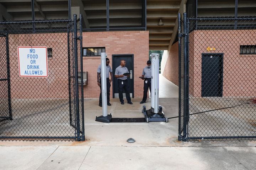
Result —
[[151, 107], [154, 108], [154, 113], [159, 112], [159, 54], [151, 53]]

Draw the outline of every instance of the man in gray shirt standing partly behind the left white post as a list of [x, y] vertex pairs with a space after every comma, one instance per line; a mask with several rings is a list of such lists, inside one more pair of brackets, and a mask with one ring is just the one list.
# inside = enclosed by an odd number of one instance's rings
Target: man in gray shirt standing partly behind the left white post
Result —
[[[106, 78], [107, 78], [107, 105], [111, 106], [110, 104], [110, 86], [111, 86], [111, 81], [112, 81], [112, 69], [109, 66], [109, 59], [106, 58]], [[110, 73], [110, 74], [109, 74]], [[98, 86], [100, 86], [101, 89], [101, 64], [98, 66], [97, 69], [97, 83]], [[109, 79], [109, 75], [110, 75], [110, 79]], [[99, 99], [99, 106], [102, 107], [102, 96], [101, 96], [101, 92], [100, 92], [100, 99]]]

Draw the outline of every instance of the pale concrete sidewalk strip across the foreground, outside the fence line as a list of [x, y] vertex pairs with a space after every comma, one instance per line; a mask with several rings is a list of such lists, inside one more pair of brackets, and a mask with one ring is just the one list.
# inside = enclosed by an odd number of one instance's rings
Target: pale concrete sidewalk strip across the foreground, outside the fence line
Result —
[[[76, 143], [76, 142], [75, 142]], [[63, 143], [62, 143], [63, 144]], [[73, 145], [70, 142], [69, 145]], [[78, 144], [78, 143], [76, 143]], [[81, 144], [78, 144], [81, 145]], [[0, 146], [1, 170], [255, 170], [254, 146]]]

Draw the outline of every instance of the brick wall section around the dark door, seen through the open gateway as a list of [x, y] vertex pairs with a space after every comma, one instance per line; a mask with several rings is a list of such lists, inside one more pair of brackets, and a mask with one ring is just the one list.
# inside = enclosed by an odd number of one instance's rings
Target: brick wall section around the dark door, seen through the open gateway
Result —
[[[143, 81], [138, 78], [146, 66], [149, 55], [148, 31], [87, 32], [83, 33], [83, 47], [105, 47], [112, 68], [112, 55], [134, 55], [134, 97], [143, 97]], [[83, 57], [84, 71], [88, 72], [88, 85], [84, 87], [85, 98], [98, 98], [97, 68], [100, 57]], [[112, 68], [113, 69], [113, 68]], [[110, 88], [112, 98], [112, 83]]]

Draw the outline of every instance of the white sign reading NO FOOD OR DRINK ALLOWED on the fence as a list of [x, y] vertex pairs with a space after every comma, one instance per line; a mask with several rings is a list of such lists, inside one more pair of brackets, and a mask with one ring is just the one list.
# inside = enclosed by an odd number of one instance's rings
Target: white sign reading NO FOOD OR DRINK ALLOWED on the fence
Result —
[[18, 46], [20, 77], [48, 77], [47, 47]]

